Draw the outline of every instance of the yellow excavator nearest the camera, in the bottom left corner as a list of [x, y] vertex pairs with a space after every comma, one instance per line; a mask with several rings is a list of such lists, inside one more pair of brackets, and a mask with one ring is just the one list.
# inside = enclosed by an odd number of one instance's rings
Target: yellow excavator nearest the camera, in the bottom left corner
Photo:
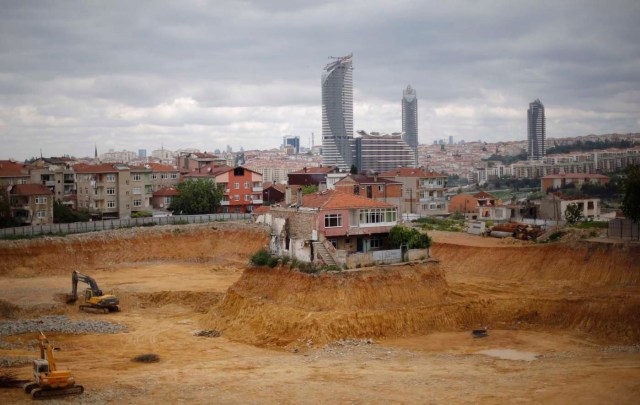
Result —
[[24, 386], [24, 392], [33, 399], [47, 399], [64, 395], [79, 395], [84, 392], [82, 385], [77, 385], [71, 371], [58, 370], [53, 357], [53, 345], [40, 332], [40, 358], [33, 361], [33, 378], [35, 381]]

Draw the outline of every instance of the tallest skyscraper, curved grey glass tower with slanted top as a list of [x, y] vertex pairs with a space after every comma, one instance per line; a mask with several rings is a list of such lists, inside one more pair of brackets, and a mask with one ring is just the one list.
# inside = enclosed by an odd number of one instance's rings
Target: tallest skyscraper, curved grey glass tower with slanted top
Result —
[[322, 164], [344, 170], [354, 163], [352, 57], [333, 58], [322, 74]]

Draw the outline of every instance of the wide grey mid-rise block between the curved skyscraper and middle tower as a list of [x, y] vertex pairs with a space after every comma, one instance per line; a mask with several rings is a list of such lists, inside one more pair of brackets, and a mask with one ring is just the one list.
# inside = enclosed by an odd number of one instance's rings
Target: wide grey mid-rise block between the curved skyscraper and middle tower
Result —
[[355, 165], [358, 172], [382, 173], [398, 167], [415, 167], [416, 150], [402, 139], [402, 134], [358, 131], [355, 138]]

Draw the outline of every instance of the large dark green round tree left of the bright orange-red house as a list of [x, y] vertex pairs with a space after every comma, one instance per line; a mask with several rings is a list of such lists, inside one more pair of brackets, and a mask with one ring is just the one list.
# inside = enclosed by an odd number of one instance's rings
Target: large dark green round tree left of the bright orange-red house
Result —
[[189, 179], [177, 186], [180, 193], [170, 209], [181, 214], [212, 214], [220, 206], [222, 188], [209, 179]]

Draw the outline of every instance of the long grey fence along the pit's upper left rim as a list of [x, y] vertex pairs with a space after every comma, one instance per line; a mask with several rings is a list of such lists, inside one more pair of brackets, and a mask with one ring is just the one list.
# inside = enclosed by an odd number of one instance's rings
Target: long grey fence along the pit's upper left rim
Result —
[[235, 221], [251, 218], [251, 214], [209, 214], [209, 215], [173, 215], [167, 217], [146, 217], [129, 219], [108, 219], [104, 221], [73, 222], [70, 224], [47, 224], [21, 226], [0, 229], [0, 238], [37, 236], [46, 234], [71, 234], [95, 231], [107, 231], [136, 226], [200, 224], [215, 221]]

